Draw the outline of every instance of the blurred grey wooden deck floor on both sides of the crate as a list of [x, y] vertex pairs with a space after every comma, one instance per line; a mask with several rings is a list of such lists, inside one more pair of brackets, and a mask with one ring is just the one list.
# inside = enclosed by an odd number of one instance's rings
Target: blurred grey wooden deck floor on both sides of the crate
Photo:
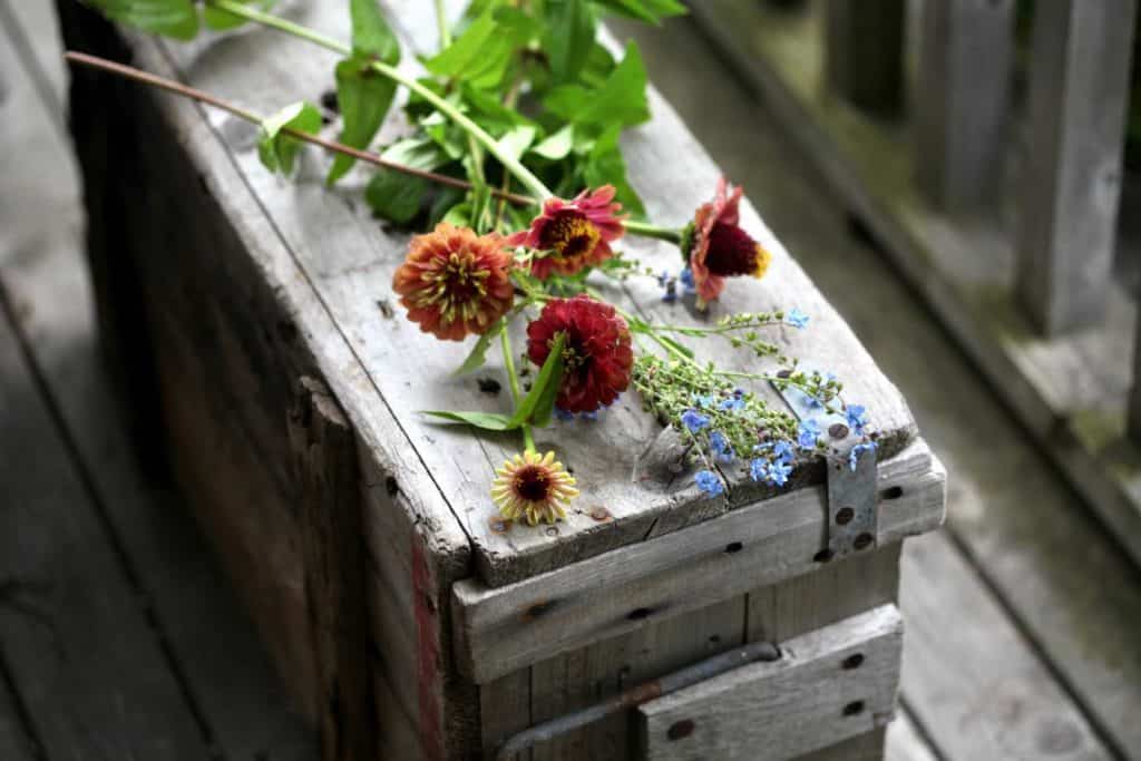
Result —
[[[50, 7], [0, 0], [0, 760], [315, 759], [100, 369]], [[948, 526], [904, 552], [889, 758], [1141, 760], [1141, 574], [696, 27], [617, 30], [947, 463]]]

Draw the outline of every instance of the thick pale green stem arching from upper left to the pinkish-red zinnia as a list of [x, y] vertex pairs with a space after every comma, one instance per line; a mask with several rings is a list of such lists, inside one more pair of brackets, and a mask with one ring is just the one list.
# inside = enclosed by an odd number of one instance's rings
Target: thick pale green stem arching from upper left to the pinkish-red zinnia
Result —
[[[268, 26], [280, 32], [292, 34], [293, 37], [313, 42], [314, 44], [318, 44], [323, 48], [332, 50], [333, 52], [339, 52], [342, 56], [349, 56], [353, 54], [353, 49], [342, 42], [338, 42], [337, 40], [325, 37], [319, 32], [301, 26], [300, 24], [294, 24], [293, 22], [281, 18], [280, 16], [266, 14], [240, 2], [235, 2], [234, 0], [207, 0], [207, 3], [220, 10], [234, 14], [235, 16], [241, 16], [248, 21], [261, 24], [262, 26]], [[524, 167], [517, 159], [513, 159], [501, 151], [499, 144], [495, 141], [495, 138], [484, 131], [479, 124], [468, 119], [468, 116], [453, 104], [439, 97], [415, 79], [389, 66], [388, 64], [379, 60], [372, 60], [369, 63], [369, 66], [378, 74], [387, 76], [397, 84], [403, 84], [408, 88], [421, 98], [436, 106], [440, 113], [445, 114], [456, 124], [467, 130], [468, 133], [478, 140], [489, 154], [495, 156], [495, 159], [499, 160], [499, 162], [503, 164], [509, 172], [515, 175], [516, 179], [518, 179], [524, 187], [527, 188], [531, 195], [536, 199], [536, 203], [542, 203], [547, 199], [553, 196], [553, 193], [551, 193], [547, 186], [543, 185], [541, 179], [535, 177], [532, 171]]]

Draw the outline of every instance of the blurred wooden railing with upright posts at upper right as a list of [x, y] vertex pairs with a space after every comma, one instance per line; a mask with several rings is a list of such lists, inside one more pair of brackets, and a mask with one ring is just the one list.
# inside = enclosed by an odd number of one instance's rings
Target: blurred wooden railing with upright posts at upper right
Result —
[[1117, 274], [1136, 5], [690, 7], [1141, 560], [1141, 330]]

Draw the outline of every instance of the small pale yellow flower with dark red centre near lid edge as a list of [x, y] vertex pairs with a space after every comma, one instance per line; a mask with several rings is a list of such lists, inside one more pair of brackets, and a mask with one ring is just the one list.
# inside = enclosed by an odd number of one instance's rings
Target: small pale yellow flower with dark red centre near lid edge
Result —
[[504, 518], [526, 518], [532, 526], [540, 518], [553, 524], [566, 517], [565, 507], [578, 496], [574, 484], [563, 463], [555, 461], [553, 452], [524, 452], [495, 471], [492, 500]]

